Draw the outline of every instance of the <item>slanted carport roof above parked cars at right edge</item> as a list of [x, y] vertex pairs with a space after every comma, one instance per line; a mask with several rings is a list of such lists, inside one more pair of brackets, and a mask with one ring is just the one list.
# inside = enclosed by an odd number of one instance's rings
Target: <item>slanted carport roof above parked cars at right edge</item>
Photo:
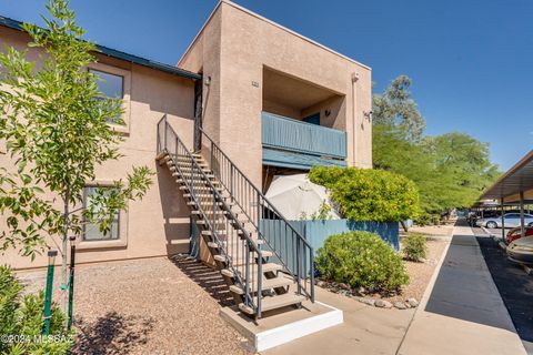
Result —
[[480, 200], [509, 197], [533, 189], [533, 150], [511, 168], [494, 185], [486, 190]]

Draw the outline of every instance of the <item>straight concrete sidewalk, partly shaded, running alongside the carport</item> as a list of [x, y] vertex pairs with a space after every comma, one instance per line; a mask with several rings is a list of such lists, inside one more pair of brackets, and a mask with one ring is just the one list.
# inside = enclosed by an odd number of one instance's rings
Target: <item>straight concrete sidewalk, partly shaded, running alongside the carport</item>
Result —
[[525, 354], [470, 227], [455, 227], [398, 354]]

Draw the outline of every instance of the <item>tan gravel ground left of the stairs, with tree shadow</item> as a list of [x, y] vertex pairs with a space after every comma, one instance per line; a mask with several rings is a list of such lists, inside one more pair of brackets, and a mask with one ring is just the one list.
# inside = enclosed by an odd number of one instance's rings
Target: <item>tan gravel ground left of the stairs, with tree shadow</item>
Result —
[[[19, 276], [30, 292], [44, 285], [44, 271]], [[187, 257], [81, 265], [73, 354], [250, 354], [219, 316], [230, 303], [219, 272]]]

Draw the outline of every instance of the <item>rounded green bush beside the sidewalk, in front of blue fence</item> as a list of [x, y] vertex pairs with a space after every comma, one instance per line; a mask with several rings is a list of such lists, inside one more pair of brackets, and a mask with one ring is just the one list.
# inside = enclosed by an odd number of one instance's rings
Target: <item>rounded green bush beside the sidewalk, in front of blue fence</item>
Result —
[[329, 236], [316, 252], [316, 270], [326, 280], [371, 292], [394, 292], [409, 283], [401, 256], [370, 232]]

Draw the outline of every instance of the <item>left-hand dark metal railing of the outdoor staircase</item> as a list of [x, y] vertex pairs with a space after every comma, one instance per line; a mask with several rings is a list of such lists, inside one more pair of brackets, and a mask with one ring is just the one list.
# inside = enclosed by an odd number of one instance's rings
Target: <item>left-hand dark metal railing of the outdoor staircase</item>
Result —
[[[232, 211], [231, 203], [227, 202], [228, 196], [217, 190], [209, 174], [168, 123], [167, 115], [158, 122], [157, 145], [158, 156], [165, 153], [172, 156], [175, 171], [189, 190], [194, 207], [207, 226], [205, 231], [211, 233], [212, 241], [217, 243], [218, 250], [227, 260], [228, 268], [234, 275], [235, 284], [244, 292], [243, 303], [254, 311], [257, 317], [261, 317], [263, 255], [260, 246]], [[180, 160], [189, 166], [185, 169]], [[257, 253], [257, 258], [252, 253]], [[253, 258], [255, 261], [251, 262]], [[252, 293], [257, 295], [255, 302]]]

